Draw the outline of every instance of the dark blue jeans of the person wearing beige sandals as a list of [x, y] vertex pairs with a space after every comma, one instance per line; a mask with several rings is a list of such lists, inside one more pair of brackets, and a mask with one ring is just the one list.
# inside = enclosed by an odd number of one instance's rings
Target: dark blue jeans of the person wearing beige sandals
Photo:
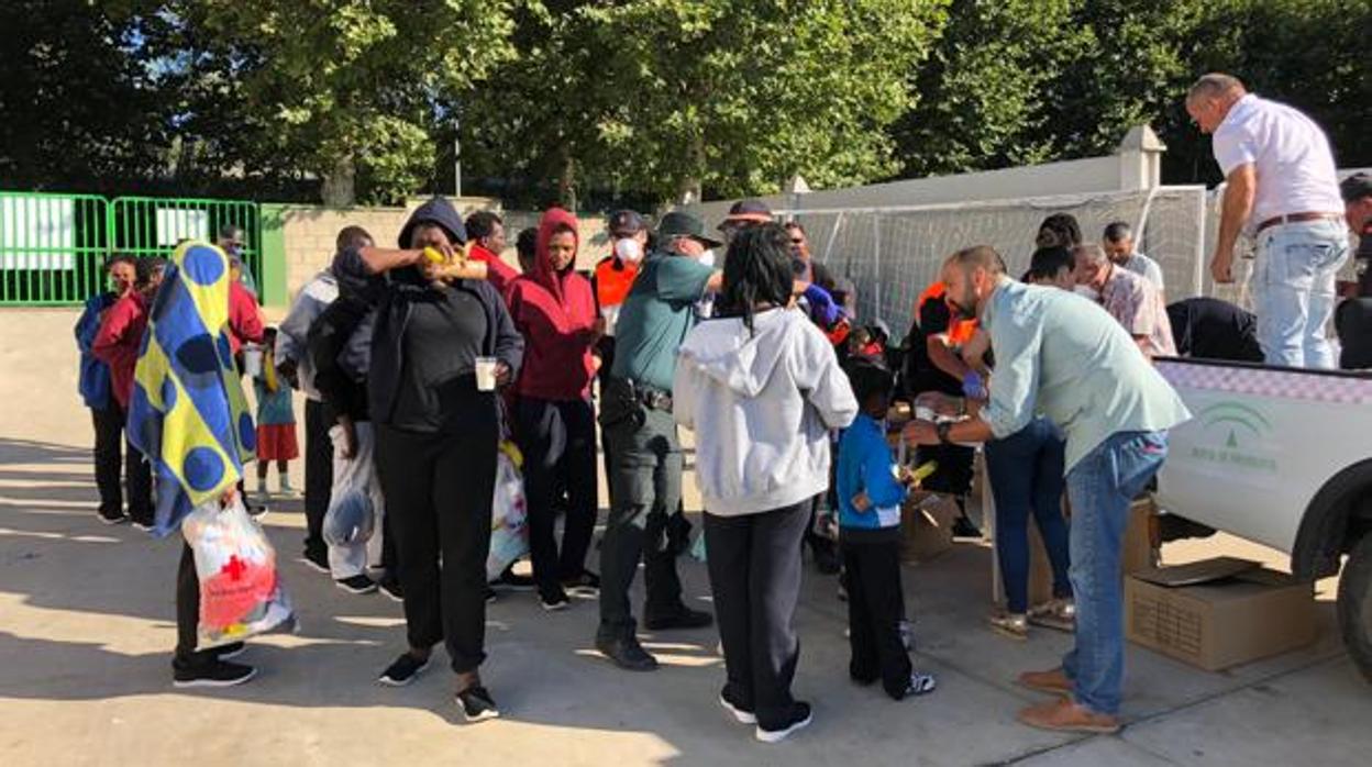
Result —
[[1029, 515], [1039, 526], [1052, 564], [1052, 595], [1070, 597], [1067, 521], [1062, 517], [1063, 449], [1048, 418], [1036, 418], [1015, 434], [986, 443], [986, 471], [996, 497], [996, 557], [1006, 587], [1006, 606], [1029, 609]]

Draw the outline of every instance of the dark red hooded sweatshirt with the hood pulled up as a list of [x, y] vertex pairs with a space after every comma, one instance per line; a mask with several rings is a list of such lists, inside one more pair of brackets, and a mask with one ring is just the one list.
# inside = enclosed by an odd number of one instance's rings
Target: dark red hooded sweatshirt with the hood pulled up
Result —
[[[510, 317], [524, 335], [524, 366], [514, 391], [535, 399], [571, 401], [590, 394], [595, 368], [591, 346], [595, 343], [595, 296], [591, 283], [575, 270], [553, 272], [547, 241], [560, 224], [572, 228], [576, 217], [554, 207], [538, 225], [538, 250], [534, 270], [520, 274], [508, 295]], [[576, 243], [578, 250], [580, 241]]]

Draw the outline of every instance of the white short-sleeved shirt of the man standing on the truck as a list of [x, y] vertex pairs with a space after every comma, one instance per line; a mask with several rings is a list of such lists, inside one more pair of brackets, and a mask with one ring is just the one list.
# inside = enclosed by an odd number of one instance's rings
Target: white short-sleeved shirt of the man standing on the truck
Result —
[[1239, 99], [1214, 132], [1214, 159], [1225, 177], [1240, 165], [1257, 170], [1250, 226], [1292, 213], [1343, 210], [1328, 137], [1286, 104], [1253, 93]]

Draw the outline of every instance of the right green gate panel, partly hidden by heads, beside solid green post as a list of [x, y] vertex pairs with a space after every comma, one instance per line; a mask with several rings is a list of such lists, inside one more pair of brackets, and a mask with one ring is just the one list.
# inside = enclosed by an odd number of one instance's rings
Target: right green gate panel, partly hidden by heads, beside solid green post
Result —
[[258, 203], [191, 198], [115, 198], [110, 202], [114, 252], [166, 257], [181, 240], [214, 241], [225, 226], [243, 229], [243, 259], [254, 290], [262, 284], [262, 215]]

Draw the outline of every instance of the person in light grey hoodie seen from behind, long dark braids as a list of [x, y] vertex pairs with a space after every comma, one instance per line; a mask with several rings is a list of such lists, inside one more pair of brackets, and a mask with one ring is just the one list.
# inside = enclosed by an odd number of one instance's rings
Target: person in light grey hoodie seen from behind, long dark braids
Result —
[[809, 723], [792, 697], [800, 642], [800, 542], [829, 487], [829, 432], [858, 414], [834, 349], [793, 302], [786, 231], [740, 232], [724, 258], [720, 318], [682, 343], [676, 423], [696, 432], [709, 585], [724, 646], [720, 704], [777, 742]]

